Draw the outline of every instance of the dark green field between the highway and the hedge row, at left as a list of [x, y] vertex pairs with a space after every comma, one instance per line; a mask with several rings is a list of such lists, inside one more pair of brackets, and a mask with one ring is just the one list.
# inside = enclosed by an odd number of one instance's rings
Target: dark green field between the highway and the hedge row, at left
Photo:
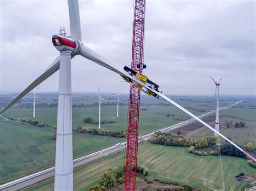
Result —
[[[55, 164], [53, 130], [12, 121], [0, 121], [0, 183]], [[73, 157], [124, 142], [124, 138], [73, 133]]]

